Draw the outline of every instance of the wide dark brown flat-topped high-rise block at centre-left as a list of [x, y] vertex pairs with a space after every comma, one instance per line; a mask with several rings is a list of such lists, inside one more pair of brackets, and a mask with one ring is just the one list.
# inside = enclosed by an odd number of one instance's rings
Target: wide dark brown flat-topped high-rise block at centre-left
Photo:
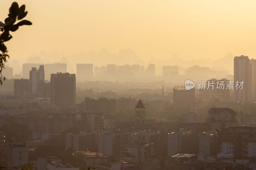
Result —
[[76, 75], [51, 74], [51, 104], [67, 109], [76, 104]]

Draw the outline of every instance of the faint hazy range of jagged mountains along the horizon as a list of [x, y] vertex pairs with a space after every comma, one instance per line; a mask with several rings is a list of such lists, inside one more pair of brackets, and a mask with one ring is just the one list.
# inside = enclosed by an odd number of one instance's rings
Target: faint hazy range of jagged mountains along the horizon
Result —
[[156, 75], [160, 73], [163, 65], [179, 66], [180, 74], [184, 73], [184, 70], [194, 65], [209, 67], [211, 70], [228, 70], [229, 74], [233, 74], [233, 59], [234, 55], [231, 53], [216, 60], [210, 58], [183, 60], [182, 58], [179, 58], [177, 54], [173, 54], [169, 59], [161, 59], [151, 56], [148, 61], [143, 61], [140, 56], [130, 48], [121, 49], [117, 54], [111, 54], [107, 49], [102, 48], [98, 53], [90, 50], [87, 53], [81, 52], [73, 53], [71, 55], [60, 54], [57, 52], [47, 54], [42, 50], [39, 55], [30, 55], [26, 63], [67, 63], [67, 71], [70, 73], [76, 73], [76, 63], [93, 63], [93, 66], [107, 64], [140, 64], [144, 65], [145, 68], [148, 67], [148, 64], [155, 64]]

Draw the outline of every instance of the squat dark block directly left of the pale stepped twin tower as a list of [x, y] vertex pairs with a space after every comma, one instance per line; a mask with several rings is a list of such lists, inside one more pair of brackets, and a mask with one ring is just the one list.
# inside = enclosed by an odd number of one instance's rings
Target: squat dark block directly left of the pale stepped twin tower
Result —
[[14, 79], [14, 95], [27, 96], [32, 93], [32, 82], [30, 79]]

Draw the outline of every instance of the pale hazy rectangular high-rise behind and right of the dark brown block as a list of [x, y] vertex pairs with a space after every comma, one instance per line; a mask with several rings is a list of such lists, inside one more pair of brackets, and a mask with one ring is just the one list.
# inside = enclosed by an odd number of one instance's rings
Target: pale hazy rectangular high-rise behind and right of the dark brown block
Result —
[[84, 82], [93, 77], [93, 64], [76, 64], [76, 80]]

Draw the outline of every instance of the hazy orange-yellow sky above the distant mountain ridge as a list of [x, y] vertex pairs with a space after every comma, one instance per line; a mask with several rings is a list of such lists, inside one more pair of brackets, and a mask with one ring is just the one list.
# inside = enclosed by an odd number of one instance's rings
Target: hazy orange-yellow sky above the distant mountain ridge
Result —
[[[42, 49], [72, 54], [106, 48], [131, 48], [143, 60], [256, 58], [255, 1], [18, 0], [32, 26], [12, 33], [7, 44], [14, 58]], [[12, 1], [2, 0], [0, 21]], [[79, 60], [79, 59], [78, 59]]]

